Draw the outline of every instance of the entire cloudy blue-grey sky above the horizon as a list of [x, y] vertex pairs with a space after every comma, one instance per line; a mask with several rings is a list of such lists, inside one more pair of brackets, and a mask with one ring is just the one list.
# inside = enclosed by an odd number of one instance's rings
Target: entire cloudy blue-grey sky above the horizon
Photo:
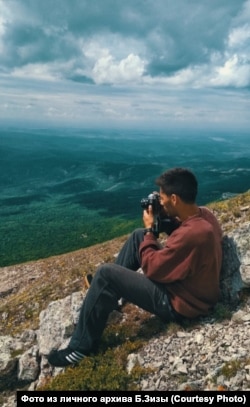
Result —
[[250, 0], [0, 0], [0, 124], [250, 131]]

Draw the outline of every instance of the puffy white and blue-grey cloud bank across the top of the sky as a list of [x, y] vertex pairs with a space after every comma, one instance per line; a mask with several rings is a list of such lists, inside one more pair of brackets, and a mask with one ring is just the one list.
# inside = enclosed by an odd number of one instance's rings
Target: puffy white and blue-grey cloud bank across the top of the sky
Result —
[[[210, 64], [214, 53], [221, 54], [223, 66], [235, 45], [244, 51], [250, 30], [243, 12], [249, 2], [242, 0], [2, 0], [2, 6], [2, 70], [47, 63], [54, 72], [55, 61], [71, 60], [75, 75], [65, 77], [77, 77], [80, 69], [97, 83], [127, 81], [131, 73], [122, 70], [130, 69], [131, 55], [137, 59], [134, 81]], [[93, 44], [99, 55], [90, 52]]]

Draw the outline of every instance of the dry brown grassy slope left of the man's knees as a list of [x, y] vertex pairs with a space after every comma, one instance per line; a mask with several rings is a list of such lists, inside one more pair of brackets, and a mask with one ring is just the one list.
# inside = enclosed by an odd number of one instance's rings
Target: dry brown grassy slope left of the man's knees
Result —
[[[39, 314], [52, 301], [83, 289], [83, 277], [94, 272], [97, 264], [111, 262], [126, 237], [90, 248], [36, 262], [10, 266], [16, 270], [17, 288], [1, 298], [0, 315], [4, 315], [0, 335], [17, 335], [25, 329], [38, 329]], [[18, 277], [19, 276], [19, 277]]]

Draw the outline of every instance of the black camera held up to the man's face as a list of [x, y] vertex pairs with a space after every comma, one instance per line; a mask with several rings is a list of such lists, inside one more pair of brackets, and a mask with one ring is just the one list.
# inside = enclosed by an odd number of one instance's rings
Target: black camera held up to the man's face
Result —
[[147, 198], [141, 199], [141, 207], [143, 209], [148, 209], [150, 205], [152, 206], [153, 214], [156, 218], [153, 226], [154, 235], [159, 237], [159, 234], [163, 232], [167, 235], [171, 235], [171, 233], [180, 226], [180, 222], [178, 219], [167, 216], [166, 213], [164, 213], [158, 192], [152, 192]]

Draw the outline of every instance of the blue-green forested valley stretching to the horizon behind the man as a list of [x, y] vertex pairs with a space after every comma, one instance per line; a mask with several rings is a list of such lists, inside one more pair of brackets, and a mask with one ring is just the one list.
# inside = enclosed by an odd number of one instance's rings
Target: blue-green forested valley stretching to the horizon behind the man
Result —
[[[141, 226], [140, 200], [166, 166], [188, 163], [200, 205], [239, 194], [249, 187], [245, 146], [244, 134], [218, 143], [206, 132], [1, 129], [0, 267], [91, 247]], [[242, 218], [239, 208], [223, 214], [231, 215]]]

